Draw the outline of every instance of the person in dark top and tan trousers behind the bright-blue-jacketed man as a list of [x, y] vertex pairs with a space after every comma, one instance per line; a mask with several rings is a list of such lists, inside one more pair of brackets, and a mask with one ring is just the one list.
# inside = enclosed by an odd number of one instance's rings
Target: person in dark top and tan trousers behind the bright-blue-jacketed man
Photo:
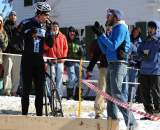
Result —
[[[112, 27], [106, 26], [106, 36], [109, 37], [112, 31]], [[107, 75], [107, 59], [105, 55], [101, 52], [98, 44], [95, 44], [95, 48], [93, 50], [93, 57], [87, 67], [87, 77], [89, 77], [90, 73], [93, 71], [93, 68], [97, 61], [100, 60], [99, 64], [99, 79], [98, 79], [98, 87], [100, 90], [104, 91], [106, 90], [106, 75]], [[100, 94], [96, 94], [95, 104], [94, 104], [94, 110], [95, 110], [95, 119], [102, 118], [103, 111], [105, 109], [105, 99]]]

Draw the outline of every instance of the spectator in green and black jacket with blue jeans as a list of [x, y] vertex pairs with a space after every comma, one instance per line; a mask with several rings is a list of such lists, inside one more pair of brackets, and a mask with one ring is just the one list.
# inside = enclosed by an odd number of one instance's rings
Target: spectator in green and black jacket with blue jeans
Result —
[[[82, 56], [82, 49], [80, 41], [77, 38], [77, 31], [74, 27], [68, 28], [68, 58], [69, 59], [80, 59]], [[68, 85], [67, 85], [67, 98], [73, 98], [74, 90], [77, 87], [76, 81], [79, 79], [79, 62], [66, 61], [65, 65], [68, 70]]]

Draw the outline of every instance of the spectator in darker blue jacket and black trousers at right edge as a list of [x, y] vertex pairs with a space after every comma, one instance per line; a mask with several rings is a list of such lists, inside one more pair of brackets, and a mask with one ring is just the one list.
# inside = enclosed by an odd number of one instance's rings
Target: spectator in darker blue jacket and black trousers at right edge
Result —
[[148, 36], [138, 48], [142, 102], [146, 113], [155, 115], [160, 113], [160, 40], [156, 37], [156, 30], [156, 23], [148, 22]]

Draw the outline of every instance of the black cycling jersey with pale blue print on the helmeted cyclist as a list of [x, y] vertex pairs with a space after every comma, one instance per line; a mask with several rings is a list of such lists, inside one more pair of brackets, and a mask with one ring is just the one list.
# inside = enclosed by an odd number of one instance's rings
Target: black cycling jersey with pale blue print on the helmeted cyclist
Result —
[[[52, 42], [46, 42], [49, 41], [48, 39], [52, 39], [51, 33], [46, 32], [42, 24], [38, 23], [34, 17], [23, 20], [18, 30], [20, 32], [20, 39], [24, 43], [24, 55], [43, 56], [43, 44], [46, 43], [49, 47], [53, 44]], [[38, 36], [36, 39], [32, 36], [34, 33]]]

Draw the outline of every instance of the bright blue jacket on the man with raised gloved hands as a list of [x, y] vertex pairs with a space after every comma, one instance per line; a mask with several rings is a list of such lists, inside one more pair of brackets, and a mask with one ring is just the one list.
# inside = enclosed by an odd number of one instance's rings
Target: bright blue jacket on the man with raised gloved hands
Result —
[[111, 36], [108, 38], [106, 35], [101, 35], [98, 37], [98, 44], [102, 52], [106, 55], [107, 60], [119, 61], [118, 48], [124, 44], [124, 52], [126, 57], [123, 59], [128, 60], [128, 51], [130, 49], [130, 35], [128, 28], [124, 24], [116, 24], [112, 28]]

